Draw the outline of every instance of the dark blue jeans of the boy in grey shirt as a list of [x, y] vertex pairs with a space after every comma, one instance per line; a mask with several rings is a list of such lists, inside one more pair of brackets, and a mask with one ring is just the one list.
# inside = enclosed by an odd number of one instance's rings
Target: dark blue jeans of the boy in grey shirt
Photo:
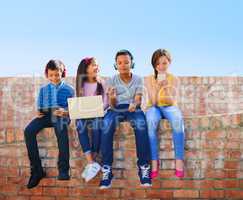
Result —
[[128, 104], [120, 104], [115, 109], [109, 109], [104, 116], [101, 136], [103, 165], [112, 166], [113, 136], [116, 126], [124, 120], [131, 123], [135, 132], [137, 164], [144, 165], [150, 162], [150, 147], [145, 115], [140, 108], [137, 108], [135, 112], [129, 112], [128, 106]]

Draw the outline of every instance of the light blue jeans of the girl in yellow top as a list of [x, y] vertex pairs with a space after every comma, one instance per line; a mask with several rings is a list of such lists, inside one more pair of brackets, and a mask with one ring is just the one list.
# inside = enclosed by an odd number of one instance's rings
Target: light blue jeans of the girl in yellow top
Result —
[[184, 120], [181, 111], [176, 106], [153, 106], [146, 112], [151, 147], [151, 159], [159, 159], [157, 129], [161, 119], [167, 119], [171, 125], [175, 158], [178, 160], [184, 160]]

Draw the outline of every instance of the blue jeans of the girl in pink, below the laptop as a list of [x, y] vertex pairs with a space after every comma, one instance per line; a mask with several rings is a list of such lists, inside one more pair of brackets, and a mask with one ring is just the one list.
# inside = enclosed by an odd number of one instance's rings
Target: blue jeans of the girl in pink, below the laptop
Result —
[[[84, 154], [99, 153], [102, 120], [102, 118], [76, 120], [79, 142]], [[92, 130], [91, 143], [89, 141], [88, 128]]]

